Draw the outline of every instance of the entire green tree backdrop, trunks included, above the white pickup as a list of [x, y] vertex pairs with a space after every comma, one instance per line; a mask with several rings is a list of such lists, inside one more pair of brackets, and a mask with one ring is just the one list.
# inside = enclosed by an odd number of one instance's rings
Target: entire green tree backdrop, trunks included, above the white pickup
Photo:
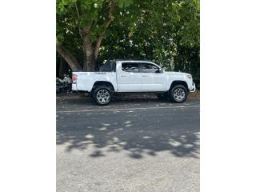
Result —
[[72, 70], [149, 59], [199, 78], [198, 0], [57, 0], [57, 50]]

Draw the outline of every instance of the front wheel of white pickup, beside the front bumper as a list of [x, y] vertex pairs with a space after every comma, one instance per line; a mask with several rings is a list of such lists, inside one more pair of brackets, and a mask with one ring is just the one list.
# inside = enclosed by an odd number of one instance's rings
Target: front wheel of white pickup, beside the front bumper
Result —
[[188, 90], [185, 86], [177, 85], [170, 89], [170, 100], [172, 102], [185, 102], [187, 98]]

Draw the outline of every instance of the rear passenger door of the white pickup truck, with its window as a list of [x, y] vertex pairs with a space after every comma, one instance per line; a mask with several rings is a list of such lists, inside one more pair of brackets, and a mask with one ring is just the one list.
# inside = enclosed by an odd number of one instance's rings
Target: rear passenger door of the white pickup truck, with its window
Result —
[[117, 73], [118, 92], [142, 91], [142, 74], [138, 62], [122, 62]]

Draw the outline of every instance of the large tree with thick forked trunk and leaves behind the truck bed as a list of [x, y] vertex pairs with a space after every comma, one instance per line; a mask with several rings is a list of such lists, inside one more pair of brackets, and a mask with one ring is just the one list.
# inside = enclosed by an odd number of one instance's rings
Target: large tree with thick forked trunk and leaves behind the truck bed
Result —
[[102, 38], [114, 20], [114, 10], [131, 3], [132, 0], [57, 0], [56, 49], [71, 69], [80, 70], [81, 66], [65, 47], [67, 40], [78, 42], [80, 49], [82, 46], [82, 69], [94, 70]]

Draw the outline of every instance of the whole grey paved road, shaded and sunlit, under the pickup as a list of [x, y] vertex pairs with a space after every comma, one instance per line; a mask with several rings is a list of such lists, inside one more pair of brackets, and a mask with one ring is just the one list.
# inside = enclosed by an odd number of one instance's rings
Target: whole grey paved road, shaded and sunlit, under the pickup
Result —
[[199, 99], [57, 98], [57, 191], [199, 191]]

